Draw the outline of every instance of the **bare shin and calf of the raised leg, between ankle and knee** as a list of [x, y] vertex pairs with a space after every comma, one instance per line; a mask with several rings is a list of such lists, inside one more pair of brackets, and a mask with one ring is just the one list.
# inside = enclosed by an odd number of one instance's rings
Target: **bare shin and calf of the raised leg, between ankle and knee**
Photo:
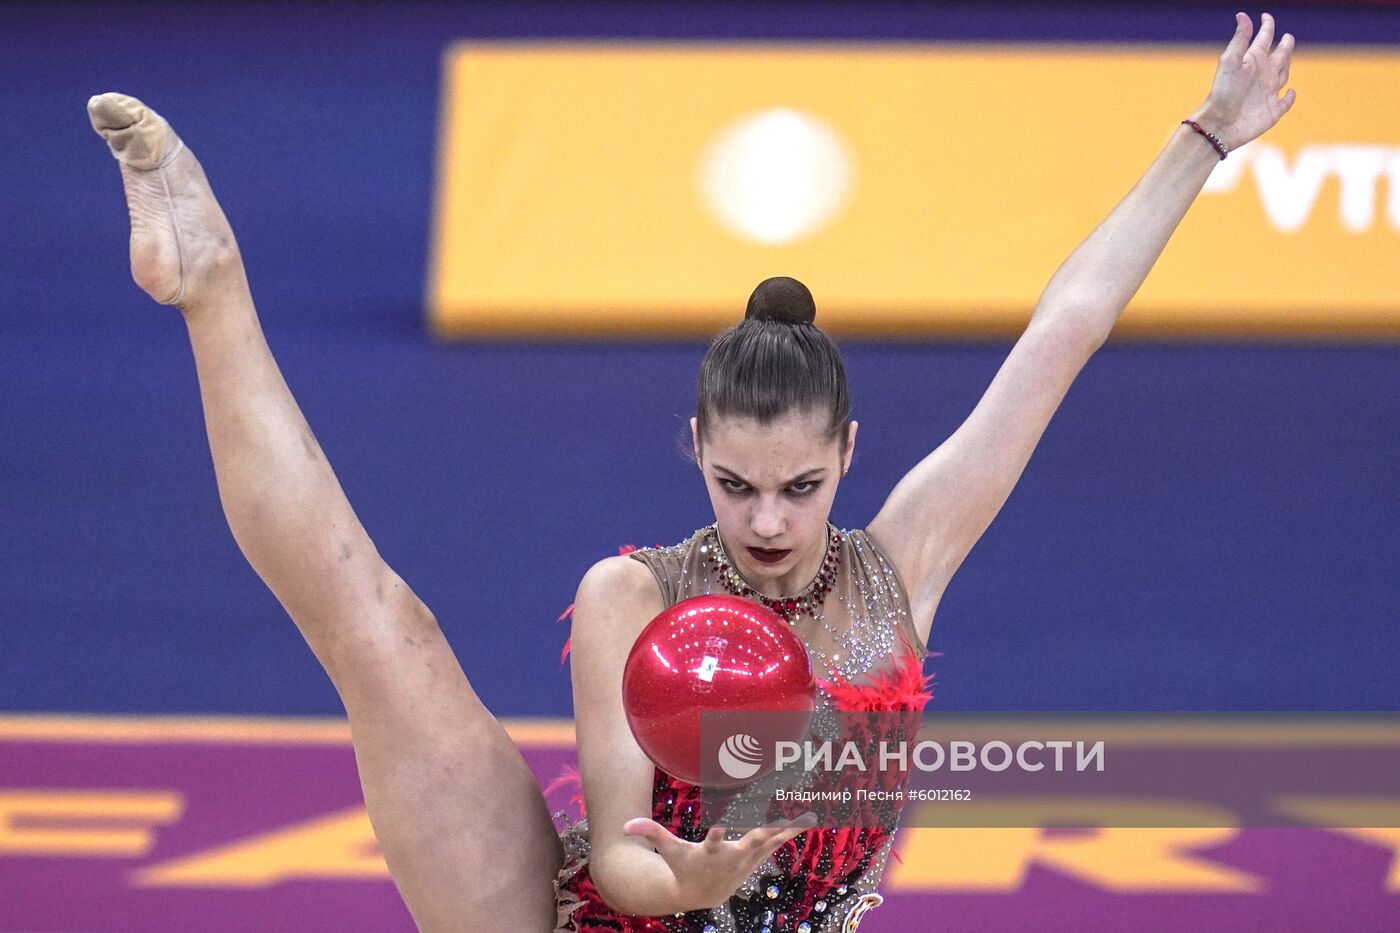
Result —
[[321, 654], [314, 636], [328, 619], [364, 616], [368, 600], [402, 587], [283, 381], [241, 263], [235, 272], [185, 314], [218, 496], [244, 556]]

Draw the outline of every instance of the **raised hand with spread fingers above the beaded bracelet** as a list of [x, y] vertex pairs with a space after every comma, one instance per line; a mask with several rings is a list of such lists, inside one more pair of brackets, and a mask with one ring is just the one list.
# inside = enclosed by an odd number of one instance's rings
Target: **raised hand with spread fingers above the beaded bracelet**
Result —
[[1243, 13], [1235, 14], [1235, 36], [1225, 46], [1215, 83], [1197, 111], [1196, 119], [1229, 148], [1263, 136], [1294, 105], [1292, 88], [1280, 97], [1288, 84], [1288, 64], [1294, 56], [1294, 36], [1288, 32], [1274, 45], [1274, 17], [1263, 14], [1259, 35], [1253, 21]]

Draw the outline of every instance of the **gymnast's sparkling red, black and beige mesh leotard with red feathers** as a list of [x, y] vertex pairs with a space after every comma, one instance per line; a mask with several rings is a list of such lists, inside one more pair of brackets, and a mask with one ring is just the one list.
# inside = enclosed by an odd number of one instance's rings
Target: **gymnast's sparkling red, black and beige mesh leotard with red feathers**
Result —
[[[637, 551], [657, 573], [672, 605], [679, 600], [722, 591], [720, 583], [707, 579], [703, 563], [690, 541], [672, 548]], [[895, 647], [883, 664], [860, 675], [834, 672], [830, 679], [819, 679], [819, 714], [837, 713], [904, 713], [903, 717], [872, 716], [869, 727], [851, 723], [861, 717], [844, 719], [844, 737], [854, 738], [867, 748], [890, 741], [892, 730], [917, 730], [918, 714], [928, 702], [930, 679], [923, 674], [925, 651], [914, 642], [909, 619], [904, 588], [883, 553], [862, 532], [847, 532], [847, 553], [843, 555], [840, 594], [851, 605], [851, 615], [871, 630], [885, 626], [892, 637], [881, 643]], [[878, 670], [875, 670], [878, 668]], [[911, 717], [911, 719], [910, 719]], [[890, 782], [902, 783], [902, 775], [874, 778], [882, 789]], [[550, 790], [559, 786], [556, 782]], [[848, 782], [847, 782], [848, 783]], [[700, 842], [711, 825], [721, 822], [727, 804], [743, 789], [720, 793], [685, 783], [661, 769], [654, 772], [652, 820], [666, 827], [680, 839]], [[581, 803], [581, 801], [580, 801]], [[749, 877], [727, 904], [671, 916], [626, 916], [609, 908], [589, 873], [587, 820], [567, 824], [561, 832], [566, 864], [556, 883], [559, 926], [556, 933], [851, 933], [861, 916], [879, 905], [876, 894], [890, 853], [897, 824], [897, 806], [882, 804], [878, 813], [844, 814], [841, 820], [823, 818], [809, 829], [783, 845]], [[774, 804], [769, 818], [795, 817], [811, 804]], [[567, 822], [564, 814], [557, 814]], [[734, 836], [731, 836], [734, 838]]]

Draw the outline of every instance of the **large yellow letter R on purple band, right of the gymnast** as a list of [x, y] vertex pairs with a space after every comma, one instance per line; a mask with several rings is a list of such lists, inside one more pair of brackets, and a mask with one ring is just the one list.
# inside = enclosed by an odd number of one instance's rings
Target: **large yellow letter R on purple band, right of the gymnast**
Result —
[[[948, 807], [959, 808], [959, 827]], [[995, 804], [924, 804], [910, 814], [892, 859], [893, 891], [1015, 891], [1042, 864], [1109, 891], [1257, 892], [1263, 878], [1194, 855], [1239, 829], [1214, 807], [1176, 801], [1004, 800]], [[977, 824], [977, 825], [966, 825]], [[1193, 825], [1194, 824], [1194, 825]], [[1211, 825], [1214, 824], [1214, 825]], [[1047, 825], [1096, 825], [1047, 832]], [[1162, 828], [1141, 828], [1144, 825]]]

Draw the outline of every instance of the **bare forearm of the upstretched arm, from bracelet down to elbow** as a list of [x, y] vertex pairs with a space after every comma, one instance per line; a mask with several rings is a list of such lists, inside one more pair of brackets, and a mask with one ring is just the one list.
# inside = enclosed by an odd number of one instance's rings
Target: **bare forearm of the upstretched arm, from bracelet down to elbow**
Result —
[[1102, 345], [1217, 161], [1201, 136], [1179, 126], [1133, 191], [1050, 279], [1032, 325], [1064, 326], [1091, 347]]

